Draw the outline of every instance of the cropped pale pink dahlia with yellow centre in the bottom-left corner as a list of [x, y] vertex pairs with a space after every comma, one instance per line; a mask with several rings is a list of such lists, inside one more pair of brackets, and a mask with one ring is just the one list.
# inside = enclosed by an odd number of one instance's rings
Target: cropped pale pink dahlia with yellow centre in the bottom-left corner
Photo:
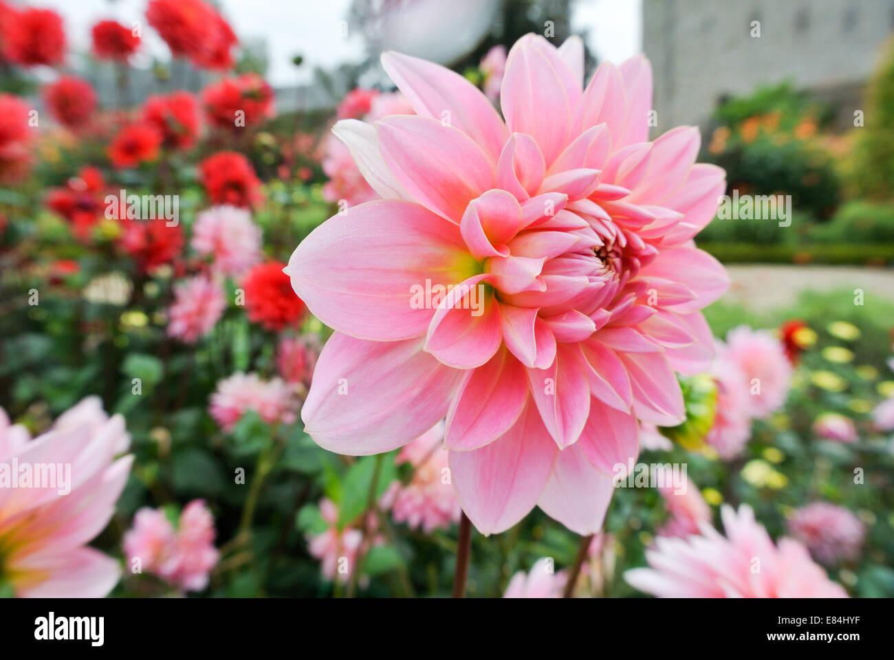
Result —
[[77, 408], [33, 440], [0, 409], [0, 582], [18, 597], [104, 597], [121, 575], [87, 544], [131, 473], [133, 456], [114, 459], [124, 419], [99, 424]]

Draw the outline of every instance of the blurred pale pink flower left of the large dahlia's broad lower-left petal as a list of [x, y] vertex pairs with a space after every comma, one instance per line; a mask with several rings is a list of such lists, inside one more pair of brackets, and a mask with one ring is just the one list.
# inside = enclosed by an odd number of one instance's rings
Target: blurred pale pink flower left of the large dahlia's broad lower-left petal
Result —
[[217, 384], [210, 403], [208, 411], [224, 431], [232, 431], [249, 410], [268, 424], [291, 424], [298, 419], [295, 394], [281, 378], [261, 380], [257, 374], [233, 374]]

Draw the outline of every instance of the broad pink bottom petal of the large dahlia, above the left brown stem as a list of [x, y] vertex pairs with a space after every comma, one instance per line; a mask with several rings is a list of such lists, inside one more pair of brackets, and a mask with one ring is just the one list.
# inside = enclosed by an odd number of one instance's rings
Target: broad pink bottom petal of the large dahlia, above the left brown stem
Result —
[[462, 509], [482, 534], [524, 518], [552, 470], [556, 446], [534, 406], [502, 437], [471, 452], [451, 452], [450, 468]]

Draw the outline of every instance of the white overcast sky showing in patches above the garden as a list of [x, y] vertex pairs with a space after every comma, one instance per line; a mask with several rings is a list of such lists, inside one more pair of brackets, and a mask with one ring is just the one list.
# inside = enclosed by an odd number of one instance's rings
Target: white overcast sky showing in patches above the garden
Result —
[[[142, 18], [148, 0], [20, 0], [15, 4], [53, 7], [63, 14], [71, 47], [86, 49], [93, 23], [115, 18], [129, 25]], [[306, 82], [315, 66], [331, 68], [362, 59], [362, 39], [340, 34], [339, 21], [350, 0], [223, 0], [219, 4], [240, 38], [266, 39], [268, 77], [274, 87]], [[619, 62], [641, 50], [641, 0], [577, 0], [574, 6], [572, 25], [575, 30], [589, 30], [588, 44], [600, 60]], [[152, 53], [166, 52], [152, 30], [145, 30], [144, 36]], [[300, 69], [291, 64], [298, 53], [306, 63]]]

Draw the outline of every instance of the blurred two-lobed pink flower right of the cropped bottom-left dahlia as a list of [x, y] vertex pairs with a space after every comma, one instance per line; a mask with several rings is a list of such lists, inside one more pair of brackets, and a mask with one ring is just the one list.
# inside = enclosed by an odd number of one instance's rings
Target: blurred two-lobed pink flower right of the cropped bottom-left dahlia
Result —
[[124, 554], [140, 572], [157, 575], [183, 591], [201, 591], [219, 557], [214, 544], [215, 519], [202, 500], [193, 500], [181, 512], [176, 530], [164, 512], [140, 509], [124, 535]]

